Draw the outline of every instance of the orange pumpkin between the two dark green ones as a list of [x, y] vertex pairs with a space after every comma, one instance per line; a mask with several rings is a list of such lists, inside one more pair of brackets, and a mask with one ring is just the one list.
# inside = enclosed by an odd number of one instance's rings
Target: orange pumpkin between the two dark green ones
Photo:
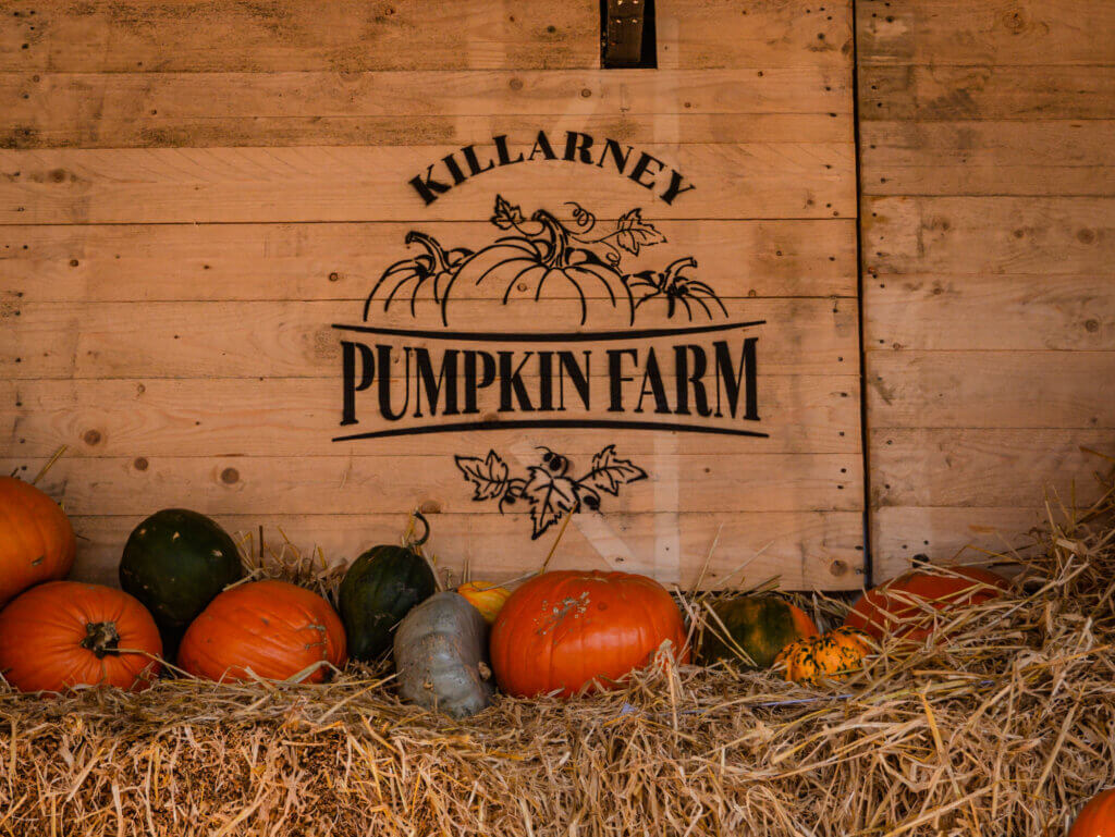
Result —
[[345, 625], [324, 598], [280, 581], [221, 593], [186, 629], [178, 665], [197, 678], [319, 683], [345, 664]]

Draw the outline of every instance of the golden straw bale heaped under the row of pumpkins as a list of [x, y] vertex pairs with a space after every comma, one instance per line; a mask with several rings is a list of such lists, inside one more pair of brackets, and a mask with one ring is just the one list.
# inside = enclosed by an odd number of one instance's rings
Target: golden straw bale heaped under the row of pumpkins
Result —
[[[1051, 835], [1115, 782], [1115, 527], [1053, 526], [953, 640], [844, 683], [673, 668], [466, 721], [376, 672], [0, 693], [0, 830], [100, 835]], [[698, 613], [699, 607], [694, 607]]]

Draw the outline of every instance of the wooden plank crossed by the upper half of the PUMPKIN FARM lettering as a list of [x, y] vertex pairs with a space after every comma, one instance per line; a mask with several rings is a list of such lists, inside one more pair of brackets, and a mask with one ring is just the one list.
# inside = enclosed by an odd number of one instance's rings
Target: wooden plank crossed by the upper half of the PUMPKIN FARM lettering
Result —
[[[764, 373], [847, 374], [856, 368], [854, 303], [727, 299], [725, 305], [740, 321], [767, 321], [755, 332]], [[516, 330], [523, 318], [537, 317], [530, 299], [498, 309], [465, 300], [454, 322], [465, 330]], [[303, 301], [4, 305], [0, 377], [334, 378], [340, 338], [331, 323], [359, 323], [359, 317], [351, 304]], [[414, 321], [408, 309], [394, 308], [377, 323], [413, 328]]]

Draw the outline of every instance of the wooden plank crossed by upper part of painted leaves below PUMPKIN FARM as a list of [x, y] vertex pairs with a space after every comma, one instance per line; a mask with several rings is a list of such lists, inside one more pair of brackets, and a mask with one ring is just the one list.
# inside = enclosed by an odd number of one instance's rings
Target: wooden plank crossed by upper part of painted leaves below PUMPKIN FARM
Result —
[[[484, 456], [484, 439], [457, 439], [462, 456]], [[375, 446], [370, 446], [375, 447]], [[617, 446], [628, 456], [626, 446]], [[593, 451], [595, 452], [595, 451]], [[539, 464], [535, 451], [522, 463], [507, 454], [512, 474], [526, 476]], [[592, 454], [570, 457], [569, 474], [578, 478], [591, 468]], [[652, 512], [853, 512], [861, 503], [860, 457], [854, 454], [727, 454], [708, 451], [646, 454], [632, 460], [647, 479], [623, 486], [619, 496], [604, 497], [611, 514]], [[473, 499], [473, 486], [452, 456], [396, 456], [388, 446], [365, 456], [145, 457], [135, 467], [130, 457], [85, 457], [56, 463], [40, 486], [75, 515], [137, 515], [175, 506], [184, 497], [211, 496], [227, 514], [362, 514], [400, 515], [427, 507], [445, 514], [518, 515], [530, 506], [516, 503], [501, 512], [495, 503]], [[46, 460], [0, 460], [0, 473]], [[842, 473], [843, 469], [843, 473]], [[676, 508], [658, 508], [660, 484], [669, 483]], [[522, 525], [530, 527], [529, 520]]]

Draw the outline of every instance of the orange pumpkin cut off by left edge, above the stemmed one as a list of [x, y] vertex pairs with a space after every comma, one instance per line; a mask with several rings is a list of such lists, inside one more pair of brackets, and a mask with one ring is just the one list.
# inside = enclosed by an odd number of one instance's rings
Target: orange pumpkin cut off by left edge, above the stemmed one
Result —
[[66, 513], [35, 486], [0, 477], [0, 606], [33, 584], [65, 578], [77, 541]]

